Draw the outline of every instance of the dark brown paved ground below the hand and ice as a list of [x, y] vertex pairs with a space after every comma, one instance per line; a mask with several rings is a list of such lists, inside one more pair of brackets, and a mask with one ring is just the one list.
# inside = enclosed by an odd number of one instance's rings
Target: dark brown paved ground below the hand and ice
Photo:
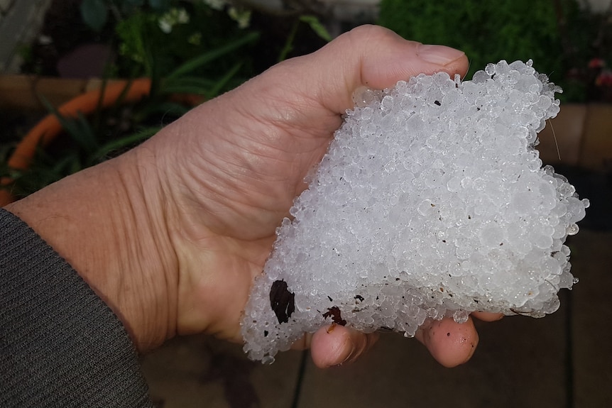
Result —
[[413, 339], [381, 337], [358, 363], [319, 370], [302, 353], [273, 365], [202, 336], [171, 341], [143, 366], [151, 394], [177, 407], [612, 407], [612, 233], [572, 237], [574, 275], [545, 319], [479, 324], [474, 358], [442, 368]]

